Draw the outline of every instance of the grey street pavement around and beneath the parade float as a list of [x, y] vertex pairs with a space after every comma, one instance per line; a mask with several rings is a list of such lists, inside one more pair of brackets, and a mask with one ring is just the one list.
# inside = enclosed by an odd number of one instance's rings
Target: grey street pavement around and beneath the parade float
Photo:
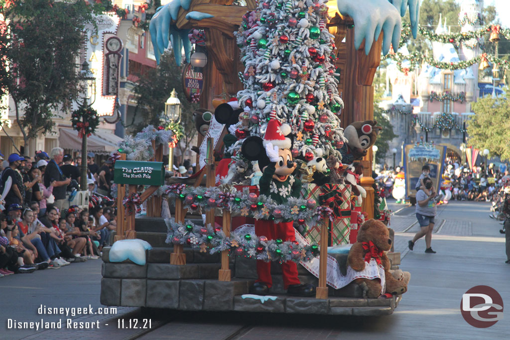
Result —
[[[2, 339], [496, 339], [510, 334], [510, 265], [505, 264], [501, 225], [488, 217], [490, 203], [450, 201], [438, 207], [432, 248], [426, 254], [424, 239], [414, 251], [407, 242], [418, 231], [415, 207], [396, 205], [391, 220], [400, 269], [410, 271], [407, 293], [393, 315], [385, 317], [282, 316], [257, 313], [168, 312], [148, 314], [140, 308], [119, 307], [115, 314], [77, 315], [75, 322], [99, 321], [100, 329], [7, 330], [7, 319], [47, 321], [64, 316], [37, 315], [41, 304], [52, 307], [101, 307], [100, 260], [59, 270], [0, 278], [2, 288]], [[471, 287], [488, 285], [502, 297], [503, 320], [488, 328], [475, 328], [461, 315], [461, 299]], [[118, 320], [151, 318], [150, 330], [118, 329]], [[108, 323], [108, 326], [104, 324]]]

